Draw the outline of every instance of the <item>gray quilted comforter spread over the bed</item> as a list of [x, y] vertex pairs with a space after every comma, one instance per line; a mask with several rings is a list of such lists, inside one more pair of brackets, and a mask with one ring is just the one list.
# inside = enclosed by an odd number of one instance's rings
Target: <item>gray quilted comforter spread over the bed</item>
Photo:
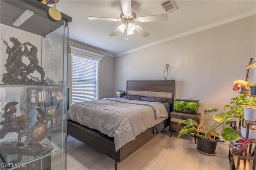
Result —
[[162, 103], [105, 98], [73, 104], [68, 119], [114, 137], [116, 151], [168, 118]]

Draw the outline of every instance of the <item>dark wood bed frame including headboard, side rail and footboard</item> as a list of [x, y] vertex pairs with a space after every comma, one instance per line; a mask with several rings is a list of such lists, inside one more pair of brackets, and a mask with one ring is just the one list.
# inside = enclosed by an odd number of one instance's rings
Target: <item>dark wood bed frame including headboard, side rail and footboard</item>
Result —
[[[127, 81], [127, 95], [155, 96], [164, 97], [170, 103], [170, 111], [173, 111], [175, 81]], [[169, 118], [164, 120], [164, 127], [168, 127]], [[84, 142], [88, 146], [95, 148], [102, 154], [115, 160], [115, 170], [117, 162], [122, 162], [130, 154], [148, 142], [157, 134], [154, 134], [154, 127], [148, 128], [132, 140], [122, 146], [117, 152], [115, 150], [114, 140], [103, 136], [102, 134], [84, 127], [78, 123], [68, 120], [68, 135]]]

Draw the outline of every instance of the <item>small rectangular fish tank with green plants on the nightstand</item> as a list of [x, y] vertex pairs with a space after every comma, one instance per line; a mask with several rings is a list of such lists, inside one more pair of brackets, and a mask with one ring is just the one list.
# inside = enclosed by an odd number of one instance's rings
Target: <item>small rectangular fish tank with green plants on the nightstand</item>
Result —
[[175, 99], [174, 111], [181, 113], [198, 114], [199, 100]]

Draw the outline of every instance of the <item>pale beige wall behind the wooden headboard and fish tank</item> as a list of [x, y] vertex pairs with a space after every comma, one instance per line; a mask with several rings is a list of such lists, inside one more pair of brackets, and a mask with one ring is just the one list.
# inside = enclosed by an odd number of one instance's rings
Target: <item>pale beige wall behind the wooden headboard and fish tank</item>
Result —
[[[175, 99], [197, 99], [199, 112], [224, 111], [236, 97], [232, 80], [245, 79], [250, 58], [255, 60], [255, 15], [202, 32], [164, 42], [115, 58], [115, 88], [126, 90], [126, 80], [176, 81]], [[253, 79], [253, 71], [249, 81]], [[202, 115], [201, 120], [212, 118]]]

